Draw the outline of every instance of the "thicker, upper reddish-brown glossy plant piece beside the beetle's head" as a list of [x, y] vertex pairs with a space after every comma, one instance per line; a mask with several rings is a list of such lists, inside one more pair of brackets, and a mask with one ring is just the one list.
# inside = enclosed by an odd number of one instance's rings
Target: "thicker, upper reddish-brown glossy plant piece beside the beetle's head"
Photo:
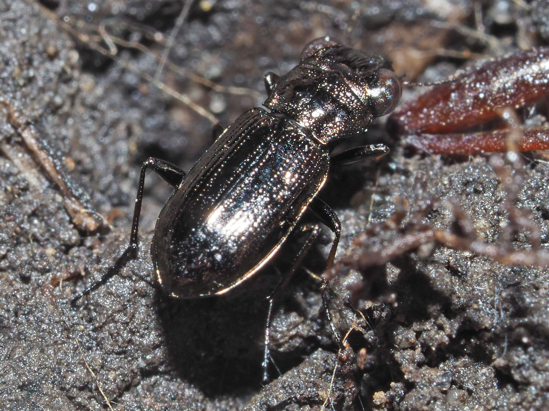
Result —
[[493, 59], [436, 85], [395, 110], [399, 135], [455, 133], [498, 117], [502, 107], [523, 107], [549, 95], [549, 48]]

